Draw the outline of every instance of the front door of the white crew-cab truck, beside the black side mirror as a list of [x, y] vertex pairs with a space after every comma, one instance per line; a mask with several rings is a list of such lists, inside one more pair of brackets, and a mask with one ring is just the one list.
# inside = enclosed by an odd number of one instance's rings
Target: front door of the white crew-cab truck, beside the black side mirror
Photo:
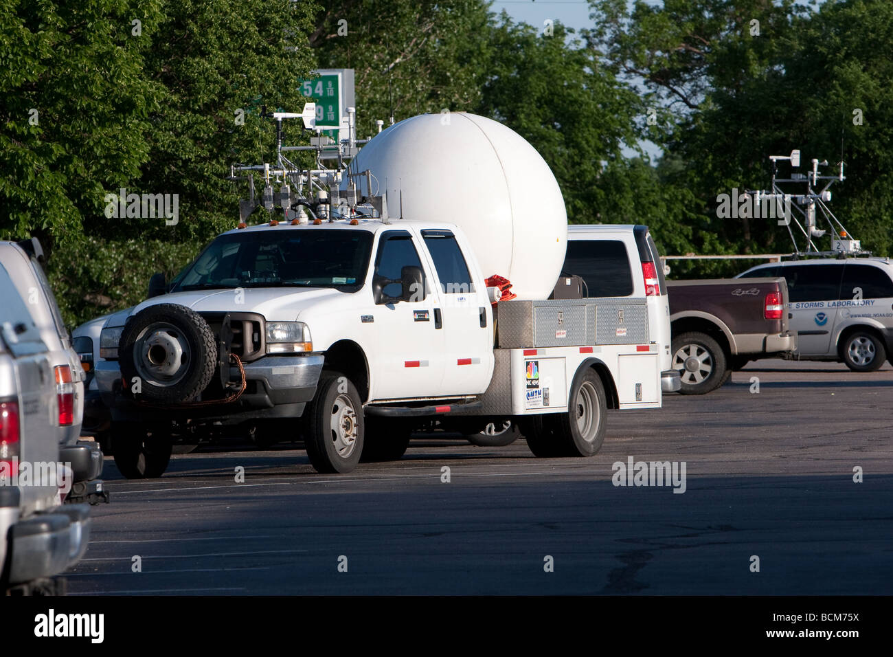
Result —
[[[440, 381], [444, 370], [444, 332], [435, 323], [438, 297], [431, 292], [430, 269], [419, 257], [420, 249], [408, 231], [381, 234], [375, 254], [375, 277], [400, 279], [406, 266], [421, 267], [422, 289], [411, 301], [377, 303], [373, 311], [376, 349], [371, 355], [372, 399], [394, 400], [438, 397], [444, 392]], [[398, 297], [398, 282], [384, 285], [382, 292]]]

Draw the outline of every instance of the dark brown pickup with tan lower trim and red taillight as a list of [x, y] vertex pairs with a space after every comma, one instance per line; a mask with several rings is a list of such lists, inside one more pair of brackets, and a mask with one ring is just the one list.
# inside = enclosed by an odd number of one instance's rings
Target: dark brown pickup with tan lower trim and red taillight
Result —
[[682, 394], [705, 394], [750, 360], [795, 348], [783, 278], [668, 281], [672, 368]]

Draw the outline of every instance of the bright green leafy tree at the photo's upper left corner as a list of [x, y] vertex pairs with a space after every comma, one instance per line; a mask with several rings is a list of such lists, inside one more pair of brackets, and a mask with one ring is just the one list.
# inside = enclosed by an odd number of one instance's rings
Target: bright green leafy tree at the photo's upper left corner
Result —
[[[139, 7], [139, 9], [137, 9]], [[143, 74], [151, 38], [132, 16], [159, 0], [0, 0], [0, 238], [76, 242], [103, 190], [139, 173], [163, 88]]]

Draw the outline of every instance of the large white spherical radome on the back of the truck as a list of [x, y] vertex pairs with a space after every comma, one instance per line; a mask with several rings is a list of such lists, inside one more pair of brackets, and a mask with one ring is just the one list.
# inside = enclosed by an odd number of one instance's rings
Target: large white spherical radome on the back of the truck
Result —
[[505, 276], [518, 299], [552, 292], [567, 212], [555, 175], [517, 132], [476, 114], [421, 114], [371, 139], [351, 164], [366, 169], [373, 194], [388, 190], [392, 221], [402, 190], [403, 217], [460, 226], [485, 277]]

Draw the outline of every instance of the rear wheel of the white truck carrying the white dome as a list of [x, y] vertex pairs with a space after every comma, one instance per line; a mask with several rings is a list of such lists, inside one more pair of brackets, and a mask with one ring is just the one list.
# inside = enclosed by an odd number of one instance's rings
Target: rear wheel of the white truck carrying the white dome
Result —
[[592, 456], [605, 442], [608, 407], [605, 386], [591, 367], [573, 377], [567, 413], [555, 417], [563, 456]]

